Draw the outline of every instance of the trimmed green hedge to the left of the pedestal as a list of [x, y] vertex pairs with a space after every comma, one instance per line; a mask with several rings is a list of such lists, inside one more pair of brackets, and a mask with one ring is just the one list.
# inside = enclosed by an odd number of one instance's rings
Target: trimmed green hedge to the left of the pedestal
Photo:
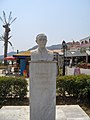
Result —
[[21, 77], [0, 77], [0, 99], [23, 99], [27, 95], [27, 85], [27, 81]]

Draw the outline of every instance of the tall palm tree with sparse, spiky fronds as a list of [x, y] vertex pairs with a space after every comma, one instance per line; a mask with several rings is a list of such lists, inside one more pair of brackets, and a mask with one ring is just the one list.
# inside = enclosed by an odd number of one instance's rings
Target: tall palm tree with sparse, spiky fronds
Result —
[[[16, 18], [12, 18], [11, 16], [12, 12], [10, 12], [8, 20], [6, 20], [6, 14], [3, 11], [3, 19], [0, 17], [0, 20], [3, 22], [3, 28], [5, 29], [4, 35], [0, 37], [0, 41], [4, 42], [4, 58], [7, 57], [7, 51], [8, 51], [8, 43], [12, 46], [12, 43], [9, 41], [9, 39], [12, 36], [9, 36], [9, 32], [11, 31], [10, 25], [16, 20]], [[7, 65], [7, 61], [4, 60], [4, 65]]]

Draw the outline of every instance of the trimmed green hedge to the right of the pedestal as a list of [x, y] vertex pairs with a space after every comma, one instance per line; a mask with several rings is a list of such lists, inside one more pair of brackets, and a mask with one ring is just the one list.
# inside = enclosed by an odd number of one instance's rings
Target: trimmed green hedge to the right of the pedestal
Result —
[[90, 75], [57, 77], [57, 95], [89, 99]]

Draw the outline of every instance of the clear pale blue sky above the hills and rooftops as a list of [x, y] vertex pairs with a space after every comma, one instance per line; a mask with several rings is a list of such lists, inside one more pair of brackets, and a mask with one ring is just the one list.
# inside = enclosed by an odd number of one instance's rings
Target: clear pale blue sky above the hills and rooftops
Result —
[[[0, 0], [0, 17], [3, 10], [8, 19], [17, 19], [10, 25], [13, 47], [8, 52], [23, 51], [36, 45], [37, 34], [47, 35], [47, 46], [61, 44], [63, 40], [79, 41], [90, 36], [90, 0]], [[0, 35], [4, 34], [0, 20]], [[4, 45], [0, 42], [0, 55]]]

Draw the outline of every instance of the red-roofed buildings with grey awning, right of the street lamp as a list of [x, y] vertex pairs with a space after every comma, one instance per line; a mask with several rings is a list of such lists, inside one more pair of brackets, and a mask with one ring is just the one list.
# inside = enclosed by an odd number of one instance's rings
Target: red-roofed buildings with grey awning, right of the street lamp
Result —
[[66, 57], [73, 60], [74, 64], [84, 62], [90, 63], [90, 36], [81, 39], [80, 42], [67, 43], [68, 50]]

